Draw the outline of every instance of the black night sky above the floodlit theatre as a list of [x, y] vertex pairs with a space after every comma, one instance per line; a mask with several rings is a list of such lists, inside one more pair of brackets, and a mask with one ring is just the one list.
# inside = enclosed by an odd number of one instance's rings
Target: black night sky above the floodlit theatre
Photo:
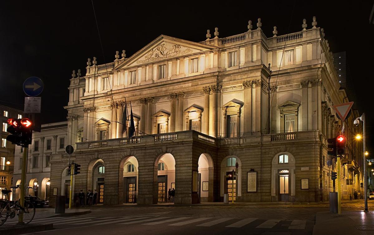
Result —
[[[374, 111], [371, 102], [374, 65], [374, 25], [369, 24], [373, 1], [196, 1], [183, 7], [157, 1], [93, 1], [104, 49], [105, 62], [114, 60], [115, 51], [126, 50], [127, 57], [160, 34], [191, 41], [205, 40], [206, 30], [219, 28], [220, 37], [244, 33], [248, 20], [254, 28], [261, 18], [264, 33], [272, 36], [307, 28], [312, 17], [325, 29], [332, 52], [346, 51], [357, 95], [357, 108], [367, 114], [369, 141], [374, 139]], [[144, 3], [144, 4], [143, 4]], [[210, 3], [210, 2], [209, 2]], [[231, 4], [230, 4], [231, 3]], [[353, 3], [353, 2], [352, 2]], [[230, 4], [230, 5], [229, 5]], [[288, 31], [289, 29], [289, 31]], [[63, 106], [68, 102], [71, 71], [85, 74], [87, 58], [104, 63], [91, 1], [9, 1], [0, 7], [0, 101], [23, 107], [23, 81], [39, 77], [43, 123], [66, 120]], [[15, 104], [15, 105], [16, 105]], [[371, 145], [371, 142], [368, 143]]]

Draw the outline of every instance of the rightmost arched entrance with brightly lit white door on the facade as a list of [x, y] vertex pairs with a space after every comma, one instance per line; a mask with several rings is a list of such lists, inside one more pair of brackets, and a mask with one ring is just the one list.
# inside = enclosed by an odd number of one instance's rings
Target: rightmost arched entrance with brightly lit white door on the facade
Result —
[[295, 158], [289, 152], [280, 152], [272, 160], [272, 201], [294, 201]]

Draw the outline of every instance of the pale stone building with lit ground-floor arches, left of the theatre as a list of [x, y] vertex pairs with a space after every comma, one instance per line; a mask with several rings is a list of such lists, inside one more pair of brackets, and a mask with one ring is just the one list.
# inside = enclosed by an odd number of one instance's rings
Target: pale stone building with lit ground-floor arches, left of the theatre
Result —
[[[49, 189], [54, 186], [50, 182], [50, 163], [53, 154], [65, 153], [67, 126], [67, 121], [47, 123], [42, 124], [41, 132], [33, 132], [32, 143], [28, 147], [26, 171], [26, 185], [33, 187], [29, 189], [29, 195], [49, 199]], [[21, 183], [22, 151], [21, 146], [15, 147], [13, 176], [15, 185]], [[19, 198], [19, 193], [19, 189], [13, 191], [14, 198]]]

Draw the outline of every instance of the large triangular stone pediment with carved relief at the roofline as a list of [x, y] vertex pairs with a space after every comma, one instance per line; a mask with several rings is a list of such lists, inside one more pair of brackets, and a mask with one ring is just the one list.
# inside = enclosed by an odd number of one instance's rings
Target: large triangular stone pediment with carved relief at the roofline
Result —
[[137, 67], [142, 64], [154, 63], [214, 49], [217, 49], [217, 47], [160, 35], [137, 53], [114, 67], [113, 70]]

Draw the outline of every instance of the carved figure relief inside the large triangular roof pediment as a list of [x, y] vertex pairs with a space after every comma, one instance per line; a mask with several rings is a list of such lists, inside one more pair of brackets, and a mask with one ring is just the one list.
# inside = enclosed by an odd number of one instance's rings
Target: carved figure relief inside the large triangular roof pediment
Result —
[[187, 53], [191, 53], [191, 49], [182, 50], [181, 45], [174, 44], [172, 48], [166, 48], [165, 43], [160, 44], [154, 49], [151, 49], [147, 55], [144, 56], [144, 60], [137, 61], [137, 64], [152, 62], [152, 61], [159, 61], [166, 58], [171, 58], [174, 56], [181, 56]]

